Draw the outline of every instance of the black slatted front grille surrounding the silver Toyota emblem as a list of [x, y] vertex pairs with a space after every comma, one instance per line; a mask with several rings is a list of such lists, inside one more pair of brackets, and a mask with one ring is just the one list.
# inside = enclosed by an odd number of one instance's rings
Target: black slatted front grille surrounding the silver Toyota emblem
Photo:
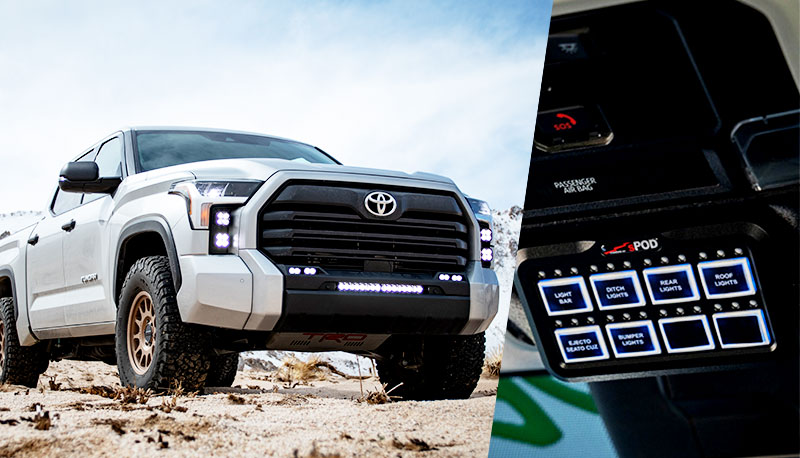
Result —
[[[387, 191], [389, 217], [370, 215], [364, 199]], [[283, 265], [376, 272], [462, 272], [469, 218], [454, 196], [424, 191], [290, 183], [261, 209], [259, 248]]]

